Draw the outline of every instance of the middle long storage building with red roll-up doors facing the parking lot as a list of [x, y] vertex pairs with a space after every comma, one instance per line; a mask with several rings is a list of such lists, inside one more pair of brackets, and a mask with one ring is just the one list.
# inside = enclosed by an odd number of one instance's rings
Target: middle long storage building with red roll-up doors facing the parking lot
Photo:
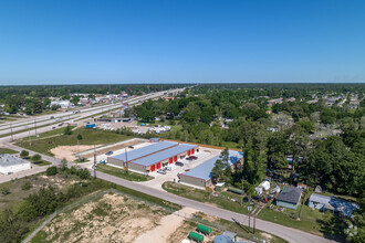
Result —
[[150, 156], [129, 161], [127, 166], [128, 169], [133, 171], [149, 173], [176, 162], [178, 159], [182, 159], [186, 156], [194, 155], [197, 149], [197, 145], [180, 144], [159, 152], [155, 152]]

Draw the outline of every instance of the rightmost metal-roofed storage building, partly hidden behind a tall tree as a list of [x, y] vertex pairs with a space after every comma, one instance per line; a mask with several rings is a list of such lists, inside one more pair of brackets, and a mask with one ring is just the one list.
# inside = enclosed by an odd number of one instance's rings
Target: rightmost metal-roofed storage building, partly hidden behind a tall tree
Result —
[[[215, 158], [205, 161], [188, 172], [181, 173], [180, 182], [201, 189], [210, 187], [212, 178], [211, 170], [213, 169], [218, 159], [221, 159], [221, 156], [216, 156]], [[243, 152], [229, 150], [229, 166], [233, 167], [237, 162], [243, 162]]]

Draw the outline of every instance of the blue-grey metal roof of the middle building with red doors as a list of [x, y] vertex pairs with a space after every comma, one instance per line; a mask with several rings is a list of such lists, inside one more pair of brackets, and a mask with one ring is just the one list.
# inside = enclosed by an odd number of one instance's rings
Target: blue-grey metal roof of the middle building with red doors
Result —
[[[159, 151], [159, 152], [139, 158], [139, 159], [134, 160], [132, 162], [137, 163], [137, 165], [142, 165], [142, 166], [150, 166], [150, 165], [154, 165], [154, 163], [159, 162], [161, 160], [171, 158], [171, 157], [174, 157], [176, 155], [179, 155], [181, 152], [185, 152], [187, 150], [194, 149], [196, 147], [198, 147], [198, 146], [197, 145], [181, 144], [181, 145], [165, 149], [163, 151]], [[129, 157], [129, 154], [128, 154], [128, 157]]]

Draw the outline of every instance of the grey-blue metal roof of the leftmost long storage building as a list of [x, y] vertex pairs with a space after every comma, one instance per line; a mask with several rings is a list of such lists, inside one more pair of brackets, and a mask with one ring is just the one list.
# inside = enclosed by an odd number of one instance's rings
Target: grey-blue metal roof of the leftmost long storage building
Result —
[[132, 161], [132, 160], [138, 159], [140, 157], [145, 157], [150, 154], [154, 154], [154, 152], [157, 152], [157, 151], [160, 151], [160, 150], [164, 150], [164, 149], [177, 146], [177, 145], [178, 145], [178, 142], [175, 142], [175, 141], [160, 141], [160, 142], [156, 142], [156, 144], [143, 147], [143, 148], [138, 148], [138, 149], [128, 151], [127, 156], [125, 156], [125, 152], [123, 152], [123, 154], [113, 156], [112, 158], [119, 159], [123, 161], [126, 161], [126, 159], [128, 159], [128, 161]]

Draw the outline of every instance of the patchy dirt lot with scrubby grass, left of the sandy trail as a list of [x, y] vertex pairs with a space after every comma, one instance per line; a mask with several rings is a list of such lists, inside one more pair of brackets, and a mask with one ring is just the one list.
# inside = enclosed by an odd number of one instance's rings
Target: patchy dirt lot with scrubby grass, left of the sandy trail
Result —
[[118, 194], [105, 194], [62, 213], [41, 232], [41, 242], [134, 242], [156, 228], [167, 213]]

